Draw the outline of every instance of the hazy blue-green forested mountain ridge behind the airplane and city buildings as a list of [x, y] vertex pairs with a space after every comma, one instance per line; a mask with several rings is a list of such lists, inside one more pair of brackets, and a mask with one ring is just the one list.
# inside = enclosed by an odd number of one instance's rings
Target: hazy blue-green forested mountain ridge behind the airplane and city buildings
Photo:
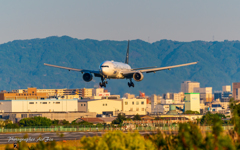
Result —
[[[0, 45], [0, 89], [12, 90], [34, 86], [37, 88], [83, 88], [100, 82], [94, 78], [86, 83], [82, 74], [44, 66], [50, 63], [73, 68], [98, 70], [105, 60], [125, 60], [127, 41], [78, 40], [68, 36], [45, 39], [16, 40]], [[138, 91], [161, 94], [178, 92], [184, 80], [199, 81], [202, 87], [221, 90], [222, 85], [238, 82], [240, 75], [240, 42], [177, 42], [161, 40], [147, 43], [130, 42], [129, 62], [132, 68], [170, 66], [199, 61], [197, 65], [144, 74], [135, 88], [128, 88], [128, 80], [110, 80], [107, 89], [114, 94]]]

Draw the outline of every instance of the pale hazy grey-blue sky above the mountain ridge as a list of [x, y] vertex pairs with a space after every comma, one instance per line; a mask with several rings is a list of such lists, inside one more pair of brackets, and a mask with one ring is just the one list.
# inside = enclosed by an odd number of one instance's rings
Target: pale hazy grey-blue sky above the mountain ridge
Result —
[[155, 42], [240, 40], [239, 0], [0, 1], [0, 44], [68, 35]]

